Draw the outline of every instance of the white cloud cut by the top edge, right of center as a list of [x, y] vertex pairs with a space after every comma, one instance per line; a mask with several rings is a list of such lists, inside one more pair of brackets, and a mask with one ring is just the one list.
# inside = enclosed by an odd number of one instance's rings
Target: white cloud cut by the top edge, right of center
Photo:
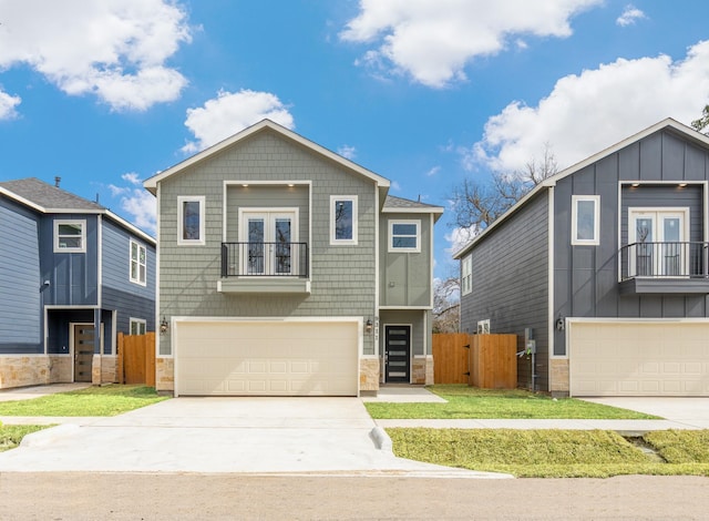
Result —
[[410, 74], [432, 88], [464, 80], [464, 67], [518, 37], [572, 34], [569, 19], [603, 0], [360, 0], [340, 39], [368, 43], [358, 60], [376, 74]]

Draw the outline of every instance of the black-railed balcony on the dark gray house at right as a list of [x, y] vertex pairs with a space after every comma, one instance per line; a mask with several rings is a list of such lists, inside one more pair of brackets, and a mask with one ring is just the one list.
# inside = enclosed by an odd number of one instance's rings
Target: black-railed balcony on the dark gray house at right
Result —
[[633, 243], [620, 248], [621, 294], [709, 294], [709, 243]]

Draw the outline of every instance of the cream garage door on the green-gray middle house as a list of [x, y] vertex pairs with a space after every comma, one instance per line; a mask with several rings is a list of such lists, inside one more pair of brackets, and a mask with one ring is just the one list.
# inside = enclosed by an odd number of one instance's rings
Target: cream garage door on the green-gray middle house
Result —
[[178, 321], [181, 396], [357, 396], [356, 321]]

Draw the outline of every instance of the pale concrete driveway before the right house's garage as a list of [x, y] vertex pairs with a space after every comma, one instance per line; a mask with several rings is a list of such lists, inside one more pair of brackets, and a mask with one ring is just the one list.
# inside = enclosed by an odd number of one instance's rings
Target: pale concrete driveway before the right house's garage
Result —
[[709, 429], [709, 398], [603, 397], [582, 399], [659, 416], [680, 426], [686, 426], [686, 428]]

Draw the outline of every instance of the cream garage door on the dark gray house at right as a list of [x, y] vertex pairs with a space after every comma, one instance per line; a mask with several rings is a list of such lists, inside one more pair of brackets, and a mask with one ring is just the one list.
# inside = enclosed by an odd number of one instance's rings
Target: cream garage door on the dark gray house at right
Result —
[[709, 396], [708, 323], [572, 323], [572, 396]]

